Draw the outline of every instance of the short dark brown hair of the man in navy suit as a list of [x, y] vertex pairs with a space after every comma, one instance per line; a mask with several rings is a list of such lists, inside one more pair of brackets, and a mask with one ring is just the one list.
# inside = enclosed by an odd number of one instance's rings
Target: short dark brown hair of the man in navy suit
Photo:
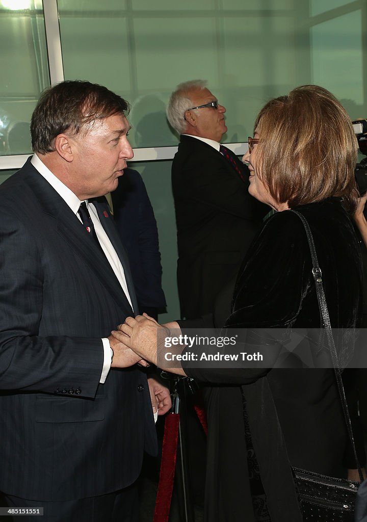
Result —
[[41, 94], [31, 119], [32, 148], [45, 154], [55, 150], [58, 134], [78, 134], [88, 124], [113, 114], [127, 115], [123, 98], [89, 81], [62, 81]]

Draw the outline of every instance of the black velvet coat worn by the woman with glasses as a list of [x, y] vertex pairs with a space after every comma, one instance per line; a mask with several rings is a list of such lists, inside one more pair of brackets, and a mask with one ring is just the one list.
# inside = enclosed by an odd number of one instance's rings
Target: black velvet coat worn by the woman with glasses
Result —
[[[360, 309], [361, 260], [351, 220], [332, 199], [295, 210], [313, 233], [332, 326], [353, 327]], [[226, 326], [319, 327], [311, 270], [299, 217], [289, 211], [271, 216], [244, 259]], [[189, 366], [187, 375], [209, 385], [206, 520], [254, 520], [254, 481], [248, 477], [259, 480], [257, 466], [271, 522], [301, 520], [287, 453], [292, 466], [342, 473], [346, 429], [333, 371]]]

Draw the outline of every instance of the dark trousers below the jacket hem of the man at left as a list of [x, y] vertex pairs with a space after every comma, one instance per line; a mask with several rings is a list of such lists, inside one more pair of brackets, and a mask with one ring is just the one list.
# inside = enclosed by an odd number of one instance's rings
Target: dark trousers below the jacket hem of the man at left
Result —
[[[136, 484], [106, 495], [63, 502], [45, 502], [4, 495], [11, 508], [43, 507], [43, 516], [21, 515], [22, 522], [138, 522], [138, 494]], [[5, 517], [4, 517], [5, 520]], [[18, 521], [19, 517], [6, 517]]]

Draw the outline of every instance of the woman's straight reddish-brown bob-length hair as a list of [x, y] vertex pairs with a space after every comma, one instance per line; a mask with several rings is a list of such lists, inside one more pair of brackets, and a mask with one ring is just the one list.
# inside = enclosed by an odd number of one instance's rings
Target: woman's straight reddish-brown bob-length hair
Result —
[[304, 85], [270, 100], [255, 131], [260, 177], [276, 201], [292, 208], [334, 196], [356, 209], [357, 139], [331, 92]]

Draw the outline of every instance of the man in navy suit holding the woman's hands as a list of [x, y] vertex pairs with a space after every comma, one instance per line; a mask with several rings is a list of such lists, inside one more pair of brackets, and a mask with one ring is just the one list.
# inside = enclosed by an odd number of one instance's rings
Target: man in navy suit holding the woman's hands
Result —
[[42, 506], [40, 520], [136, 521], [152, 405], [170, 407], [111, 335], [137, 313], [101, 198], [133, 157], [127, 113], [105, 87], [50, 88], [32, 115], [33, 157], [0, 187], [0, 491], [11, 507]]

